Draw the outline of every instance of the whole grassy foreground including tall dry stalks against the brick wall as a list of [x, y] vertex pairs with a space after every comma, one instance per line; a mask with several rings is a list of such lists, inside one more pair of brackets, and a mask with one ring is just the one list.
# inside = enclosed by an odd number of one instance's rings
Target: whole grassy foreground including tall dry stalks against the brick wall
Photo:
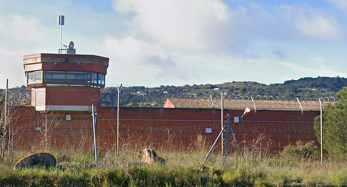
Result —
[[[82, 137], [81, 141], [88, 139]], [[131, 137], [130, 137], [131, 139]], [[298, 142], [288, 146], [281, 154], [270, 155], [271, 145], [264, 135], [243, 147], [242, 158], [236, 144], [230, 142], [227, 157], [215, 151], [203, 164], [210, 144], [197, 135], [192, 137], [192, 148], [178, 149], [164, 147], [175, 138], [167, 132], [167, 141], [157, 151], [167, 161], [166, 165], [132, 165], [140, 162], [142, 150], [151, 142], [141, 142], [140, 149], [134, 149], [136, 142], [121, 139], [120, 154], [116, 145], [110, 149], [99, 149], [99, 163], [114, 163], [112, 166], [93, 168], [36, 168], [15, 171], [16, 160], [34, 150], [17, 150], [12, 164], [0, 163], [0, 186], [280, 186], [294, 184], [347, 183], [347, 160], [325, 158], [323, 165], [316, 157], [312, 142]], [[233, 149], [236, 148], [236, 149]], [[185, 150], [185, 151], [182, 151]], [[236, 151], [235, 151], [236, 150]], [[35, 151], [40, 151], [39, 149]], [[66, 147], [50, 149], [58, 164], [94, 163], [93, 148]], [[305, 181], [281, 181], [282, 178], [305, 178]]]

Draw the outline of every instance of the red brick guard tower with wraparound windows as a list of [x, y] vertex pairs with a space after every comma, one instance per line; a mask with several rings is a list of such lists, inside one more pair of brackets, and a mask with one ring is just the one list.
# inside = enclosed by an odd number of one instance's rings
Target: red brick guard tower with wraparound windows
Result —
[[92, 111], [99, 106], [109, 58], [39, 53], [23, 57], [31, 105], [37, 111]]

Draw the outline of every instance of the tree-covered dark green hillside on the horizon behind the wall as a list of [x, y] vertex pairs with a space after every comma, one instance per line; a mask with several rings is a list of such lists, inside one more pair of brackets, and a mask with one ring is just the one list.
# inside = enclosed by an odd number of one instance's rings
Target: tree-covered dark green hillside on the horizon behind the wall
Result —
[[[335, 97], [335, 94], [347, 86], [347, 78], [343, 77], [305, 77], [299, 80], [289, 80], [284, 83], [261, 84], [257, 82], [226, 82], [223, 84], [200, 84], [159, 87], [130, 86], [122, 87], [120, 94], [120, 106], [145, 106], [160, 107], [167, 97], [184, 97], [208, 99], [220, 98], [225, 90], [226, 99], [247, 99], [247, 96], [256, 99], [272, 99], [276, 96], [280, 100], [292, 100], [298, 97], [300, 100], [309, 100], [319, 97]], [[27, 91], [26, 86], [10, 89], [12, 92]], [[3, 94], [4, 90], [0, 90]], [[270, 97], [272, 96], [272, 97]], [[276, 97], [276, 98], [277, 98]], [[100, 94], [101, 106], [117, 106], [117, 87], [105, 87]]]

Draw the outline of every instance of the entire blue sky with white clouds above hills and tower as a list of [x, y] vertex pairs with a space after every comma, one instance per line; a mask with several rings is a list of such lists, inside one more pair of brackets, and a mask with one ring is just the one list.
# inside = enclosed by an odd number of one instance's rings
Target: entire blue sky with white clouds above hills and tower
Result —
[[25, 84], [23, 55], [110, 58], [106, 86], [271, 84], [347, 77], [347, 1], [1, 0], [0, 87]]

